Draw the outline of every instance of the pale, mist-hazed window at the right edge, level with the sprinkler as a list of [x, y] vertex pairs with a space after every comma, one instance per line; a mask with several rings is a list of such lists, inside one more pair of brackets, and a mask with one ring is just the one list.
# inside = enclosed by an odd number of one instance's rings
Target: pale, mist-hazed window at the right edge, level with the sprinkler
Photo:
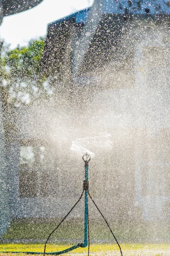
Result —
[[145, 132], [141, 148], [142, 195], [164, 196], [170, 200], [169, 128], [161, 128], [153, 136]]

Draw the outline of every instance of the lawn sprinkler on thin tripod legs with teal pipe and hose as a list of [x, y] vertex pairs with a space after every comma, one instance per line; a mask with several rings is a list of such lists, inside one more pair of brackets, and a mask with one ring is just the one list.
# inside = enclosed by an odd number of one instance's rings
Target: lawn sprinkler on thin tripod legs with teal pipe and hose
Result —
[[[121, 247], [119, 245], [119, 242], [117, 241], [115, 235], [113, 234], [113, 231], [111, 230], [111, 227], [108, 224], [108, 221], [105, 219], [104, 215], [102, 214], [102, 212], [99, 210], [99, 208], [97, 207], [96, 203], [94, 202], [93, 198], [91, 197], [90, 193], [89, 193], [89, 182], [88, 182], [88, 163], [91, 160], [91, 157], [89, 154], [85, 154], [82, 157], [82, 160], [85, 162], [85, 180], [83, 181], [83, 191], [82, 194], [79, 198], [79, 200], [74, 204], [74, 206], [71, 208], [71, 210], [68, 212], [67, 215], [65, 215], [65, 217], [62, 219], [62, 221], [58, 224], [58, 226], [49, 234], [48, 239], [45, 242], [44, 245], [44, 252], [43, 253], [39, 253], [39, 252], [3, 252], [3, 253], [27, 253], [27, 254], [43, 254], [43, 256], [45, 256], [45, 254], [48, 255], [59, 255], [59, 254], [63, 254], [63, 253], [68, 253], [71, 250], [74, 250], [76, 248], [79, 247], [87, 247], [88, 246], [88, 256], [89, 256], [89, 251], [90, 251], [90, 235], [89, 235], [89, 218], [88, 218], [88, 196], [91, 199], [91, 201], [94, 203], [95, 207], [97, 208], [97, 210], [99, 211], [100, 215], [102, 215], [102, 218], [105, 220], [105, 223], [107, 224], [109, 230], [111, 231], [116, 243], [119, 246], [119, 250], [121, 253], [121, 256], [123, 256], [122, 254], [122, 250]], [[79, 201], [81, 200], [83, 194], [85, 192], [85, 212], [84, 212], [84, 241], [82, 243], [78, 243], [72, 247], [69, 247], [68, 249], [62, 250], [62, 251], [58, 251], [58, 252], [52, 252], [52, 253], [46, 253], [46, 245], [48, 243], [48, 240], [50, 239], [51, 235], [58, 229], [58, 227], [62, 224], [62, 222], [68, 217], [68, 215], [71, 213], [71, 211], [74, 209], [74, 207], [76, 207], [76, 205], [79, 203]]]

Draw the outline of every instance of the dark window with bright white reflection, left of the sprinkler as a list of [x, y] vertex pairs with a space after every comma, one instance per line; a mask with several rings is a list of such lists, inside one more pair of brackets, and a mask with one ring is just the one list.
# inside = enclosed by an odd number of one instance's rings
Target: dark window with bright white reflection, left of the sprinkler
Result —
[[46, 197], [49, 195], [47, 147], [33, 140], [20, 141], [20, 197]]

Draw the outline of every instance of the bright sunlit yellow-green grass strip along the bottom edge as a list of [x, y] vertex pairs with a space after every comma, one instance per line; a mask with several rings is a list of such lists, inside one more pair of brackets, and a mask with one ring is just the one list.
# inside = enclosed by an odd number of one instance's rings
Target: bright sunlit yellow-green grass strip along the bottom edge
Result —
[[[68, 248], [70, 245], [48, 244], [47, 252], [60, 251]], [[0, 251], [36, 251], [43, 252], [43, 244], [0, 244]], [[123, 256], [170, 256], [170, 244], [121, 244]], [[87, 255], [88, 247], [77, 248], [71, 255]], [[96, 256], [119, 256], [119, 247], [116, 244], [91, 244], [90, 255]], [[25, 256], [24, 253], [11, 254], [0, 253], [0, 256]]]

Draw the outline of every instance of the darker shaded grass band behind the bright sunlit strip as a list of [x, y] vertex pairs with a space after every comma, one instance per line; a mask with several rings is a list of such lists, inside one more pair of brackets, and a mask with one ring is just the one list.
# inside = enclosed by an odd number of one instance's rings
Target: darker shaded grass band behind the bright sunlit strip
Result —
[[[14, 220], [3, 239], [46, 239], [59, 223], [56, 220]], [[125, 242], [168, 241], [170, 242], [170, 223], [116, 223], [109, 222], [116, 238]], [[90, 221], [91, 239], [113, 241], [104, 222]], [[84, 221], [68, 220], [62, 223], [51, 239], [83, 239]], [[157, 240], [159, 239], [159, 240]]]

